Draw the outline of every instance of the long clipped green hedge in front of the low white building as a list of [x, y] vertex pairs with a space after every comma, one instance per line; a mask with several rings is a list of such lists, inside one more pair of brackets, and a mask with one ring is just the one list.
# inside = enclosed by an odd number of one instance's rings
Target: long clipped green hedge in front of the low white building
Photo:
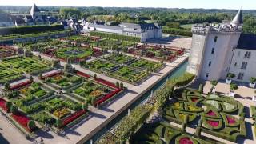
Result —
[[141, 42], [141, 38], [138, 38], [138, 37], [131, 37], [131, 36], [126, 36], [121, 34], [102, 33], [97, 31], [91, 31], [90, 36], [113, 38], [113, 39], [119, 39], [122, 41], [130, 41], [130, 42]]

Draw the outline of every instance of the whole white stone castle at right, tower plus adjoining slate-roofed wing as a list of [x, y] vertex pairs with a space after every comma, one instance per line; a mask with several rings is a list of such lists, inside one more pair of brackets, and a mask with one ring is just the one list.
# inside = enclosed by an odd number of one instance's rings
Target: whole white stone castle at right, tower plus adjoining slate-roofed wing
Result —
[[242, 34], [242, 10], [232, 22], [195, 25], [192, 33], [187, 72], [204, 80], [226, 79], [228, 73], [240, 82], [256, 77], [256, 36]]

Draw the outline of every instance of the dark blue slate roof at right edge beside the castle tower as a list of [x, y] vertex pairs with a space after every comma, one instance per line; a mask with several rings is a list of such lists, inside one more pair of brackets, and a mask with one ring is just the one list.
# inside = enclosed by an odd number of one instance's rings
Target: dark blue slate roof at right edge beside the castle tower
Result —
[[256, 34], [241, 34], [237, 48], [244, 50], [256, 50]]

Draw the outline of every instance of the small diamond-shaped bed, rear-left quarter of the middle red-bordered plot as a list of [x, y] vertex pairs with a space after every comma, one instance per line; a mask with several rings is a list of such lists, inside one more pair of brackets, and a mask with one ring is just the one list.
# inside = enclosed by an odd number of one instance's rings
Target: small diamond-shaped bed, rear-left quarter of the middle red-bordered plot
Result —
[[71, 74], [58, 74], [53, 78], [46, 78], [45, 82], [56, 90], [67, 90], [82, 83], [82, 78]]

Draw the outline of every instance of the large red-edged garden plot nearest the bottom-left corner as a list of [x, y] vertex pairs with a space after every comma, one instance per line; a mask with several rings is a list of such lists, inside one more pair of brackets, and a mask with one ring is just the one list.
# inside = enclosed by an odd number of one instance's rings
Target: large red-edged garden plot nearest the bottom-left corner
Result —
[[[10, 102], [13, 102], [22, 110], [23, 114], [42, 126], [47, 123], [60, 128], [86, 114], [86, 111], [82, 110], [81, 103], [55, 96], [54, 91], [46, 89], [40, 83], [33, 83], [16, 92], [18, 94], [16, 97], [10, 98]], [[57, 126], [58, 120], [62, 121], [62, 126]]]

